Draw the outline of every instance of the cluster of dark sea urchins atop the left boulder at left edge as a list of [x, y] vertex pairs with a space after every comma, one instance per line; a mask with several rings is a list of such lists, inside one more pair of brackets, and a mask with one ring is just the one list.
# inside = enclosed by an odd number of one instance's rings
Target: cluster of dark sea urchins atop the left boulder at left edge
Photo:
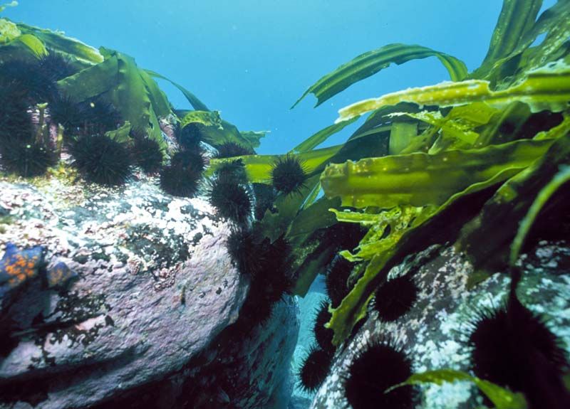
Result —
[[[56, 81], [76, 71], [55, 51], [40, 60], [9, 60], [0, 65], [4, 169], [21, 176], [41, 175], [56, 163], [63, 142], [73, 156], [73, 165], [87, 181], [122, 184], [133, 164], [144, 171], [156, 171], [162, 163], [157, 142], [139, 136], [125, 144], [105, 135], [121, 123], [110, 102], [100, 97], [76, 102], [58, 90]], [[63, 141], [56, 140], [54, 129]]]

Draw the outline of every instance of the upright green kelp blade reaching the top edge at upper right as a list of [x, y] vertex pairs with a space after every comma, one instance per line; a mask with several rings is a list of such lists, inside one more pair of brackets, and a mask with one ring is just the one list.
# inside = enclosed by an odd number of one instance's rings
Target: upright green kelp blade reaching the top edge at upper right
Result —
[[504, 0], [482, 67], [491, 66], [517, 48], [524, 35], [534, 26], [542, 0]]

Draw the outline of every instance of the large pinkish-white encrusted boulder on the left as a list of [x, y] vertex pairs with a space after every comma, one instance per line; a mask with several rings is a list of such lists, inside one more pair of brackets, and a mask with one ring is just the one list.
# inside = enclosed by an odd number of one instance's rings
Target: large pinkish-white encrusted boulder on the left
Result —
[[237, 320], [249, 285], [227, 254], [229, 225], [156, 185], [0, 181], [0, 251], [41, 246], [47, 280], [26, 282], [1, 311], [0, 408], [95, 407], [182, 382]]

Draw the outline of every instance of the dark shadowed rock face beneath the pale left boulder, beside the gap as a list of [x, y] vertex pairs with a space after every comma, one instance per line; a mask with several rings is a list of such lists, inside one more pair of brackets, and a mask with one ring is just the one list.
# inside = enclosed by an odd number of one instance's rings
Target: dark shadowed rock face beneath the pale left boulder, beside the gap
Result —
[[183, 387], [184, 404], [175, 408], [287, 409], [298, 314], [294, 297], [284, 296], [267, 322], [244, 331], [238, 321], [224, 331], [203, 356], [209, 363]]

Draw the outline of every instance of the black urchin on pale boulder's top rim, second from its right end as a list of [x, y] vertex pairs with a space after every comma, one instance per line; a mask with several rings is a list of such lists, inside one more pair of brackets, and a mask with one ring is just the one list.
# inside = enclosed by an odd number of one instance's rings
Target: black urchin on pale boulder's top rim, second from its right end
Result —
[[199, 152], [180, 151], [170, 165], [160, 171], [160, 187], [172, 196], [192, 197], [198, 190], [204, 170], [204, 156]]

